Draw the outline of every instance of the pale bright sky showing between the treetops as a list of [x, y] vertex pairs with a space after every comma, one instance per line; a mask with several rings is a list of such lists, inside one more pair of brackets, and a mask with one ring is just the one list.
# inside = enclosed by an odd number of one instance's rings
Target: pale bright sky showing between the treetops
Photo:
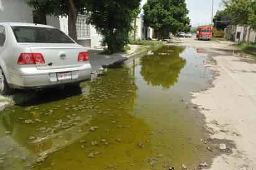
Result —
[[[147, 0], [142, 0], [142, 5]], [[222, 0], [214, 0], [214, 14], [218, 9], [223, 9]], [[211, 22], [211, 9], [213, 0], [186, 0], [192, 26], [206, 25]]]

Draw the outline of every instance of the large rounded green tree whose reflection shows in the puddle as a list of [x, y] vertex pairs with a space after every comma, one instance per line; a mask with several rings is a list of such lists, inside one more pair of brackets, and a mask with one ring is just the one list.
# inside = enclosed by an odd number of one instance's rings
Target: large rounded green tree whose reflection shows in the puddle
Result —
[[185, 0], [148, 0], [143, 9], [145, 25], [155, 29], [160, 39], [187, 29], [190, 24]]

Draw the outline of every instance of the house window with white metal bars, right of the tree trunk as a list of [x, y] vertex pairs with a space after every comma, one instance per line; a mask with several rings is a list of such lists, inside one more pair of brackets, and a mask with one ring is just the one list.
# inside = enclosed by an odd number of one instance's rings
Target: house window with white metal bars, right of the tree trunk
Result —
[[87, 16], [78, 14], [76, 19], [76, 34], [78, 40], [85, 40], [90, 37], [89, 25], [86, 24]]

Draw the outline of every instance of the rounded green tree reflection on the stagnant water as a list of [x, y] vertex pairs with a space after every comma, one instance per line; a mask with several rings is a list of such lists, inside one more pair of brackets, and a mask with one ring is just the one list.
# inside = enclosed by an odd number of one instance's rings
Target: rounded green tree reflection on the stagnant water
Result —
[[180, 57], [183, 50], [183, 47], [163, 47], [153, 55], [144, 56], [140, 74], [152, 86], [170, 88], [178, 81], [180, 71], [186, 65], [186, 60]]

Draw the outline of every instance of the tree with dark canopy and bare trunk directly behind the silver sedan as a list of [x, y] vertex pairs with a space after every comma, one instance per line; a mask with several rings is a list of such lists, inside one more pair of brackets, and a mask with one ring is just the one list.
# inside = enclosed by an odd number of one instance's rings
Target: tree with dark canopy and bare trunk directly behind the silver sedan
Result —
[[76, 19], [86, 8], [86, 0], [29, 0], [28, 4], [38, 11], [53, 16], [68, 16], [68, 33], [77, 39]]

